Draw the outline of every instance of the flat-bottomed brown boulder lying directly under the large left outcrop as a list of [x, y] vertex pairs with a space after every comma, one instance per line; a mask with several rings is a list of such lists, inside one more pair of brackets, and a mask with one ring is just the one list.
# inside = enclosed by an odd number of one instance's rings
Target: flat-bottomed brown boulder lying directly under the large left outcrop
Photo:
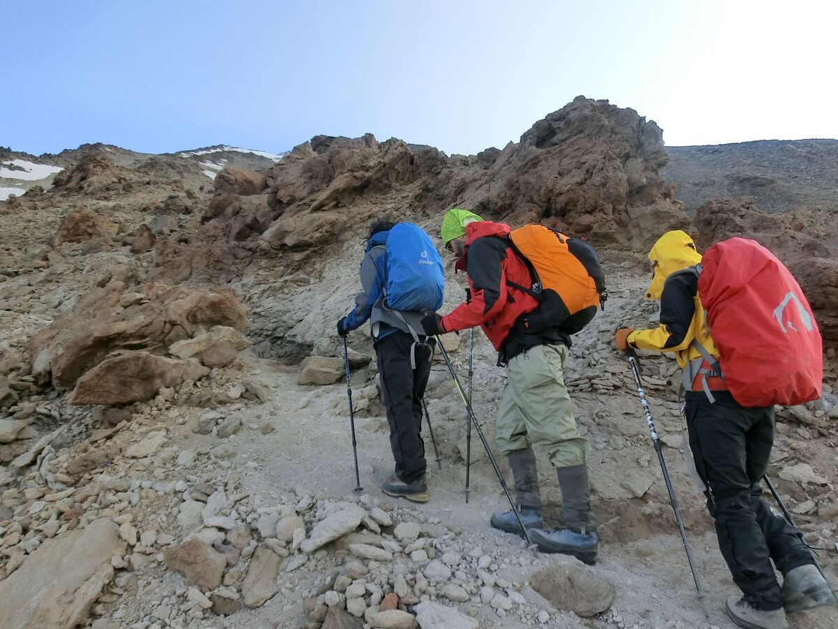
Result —
[[150, 400], [161, 387], [206, 376], [209, 368], [190, 358], [178, 361], [147, 351], [109, 358], [86, 372], [75, 384], [71, 404], [121, 404]]

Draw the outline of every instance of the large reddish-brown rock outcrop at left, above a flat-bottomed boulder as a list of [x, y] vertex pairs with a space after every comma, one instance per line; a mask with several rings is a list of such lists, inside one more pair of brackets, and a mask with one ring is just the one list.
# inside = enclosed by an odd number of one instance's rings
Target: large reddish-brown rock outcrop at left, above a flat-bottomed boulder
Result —
[[112, 351], [162, 351], [215, 325], [247, 327], [247, 311], [229, 289], [147, 284], [131, 293], [111, 282], [34, 335], [28, 353], [36, 377], [67, 388]]

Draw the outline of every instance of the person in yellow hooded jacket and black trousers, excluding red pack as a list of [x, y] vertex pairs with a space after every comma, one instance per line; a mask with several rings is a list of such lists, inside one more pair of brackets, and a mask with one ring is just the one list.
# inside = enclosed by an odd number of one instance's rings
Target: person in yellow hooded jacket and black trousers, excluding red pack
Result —
[[[617, 330], [617, 347], [671, 351], [685, 369], [693, 459], [706, 487], [719, 548], [742, 590], [741, 599], [727, 599], [727, 614], [739, 626], [781, 629], [788, 626], [786, 611], [828, 604], [831, 593], [801, 533], [761, 497], [759, 481], [773, 446], [773, 403], [744, 407], [728, 390], [699, 298], [699, 275], [691, 269], [702, 260], [691, 237], [668, 231], [652, 247], [649, 260], [652, 280], [646, 298], [660, 300], [660, 325]], [[784, 574], [782, 589], [771, 560]]]

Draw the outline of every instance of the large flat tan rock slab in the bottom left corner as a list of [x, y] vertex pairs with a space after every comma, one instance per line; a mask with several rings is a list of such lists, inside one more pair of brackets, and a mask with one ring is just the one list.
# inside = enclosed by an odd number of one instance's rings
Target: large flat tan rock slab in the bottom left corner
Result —
[[119, 527], [106, 519], [47, 539], [0, 581], [3, 629], [82, 626], [113, 578]]

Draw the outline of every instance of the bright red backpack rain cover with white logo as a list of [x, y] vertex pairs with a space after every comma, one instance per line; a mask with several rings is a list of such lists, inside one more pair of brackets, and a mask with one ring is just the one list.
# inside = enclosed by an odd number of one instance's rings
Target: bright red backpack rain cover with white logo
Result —
[[698, 294], [733, 398], [747, 407], [820, 398], [820, 331], [789, 269], [746, 238], [717, 242], [701, 267]]

